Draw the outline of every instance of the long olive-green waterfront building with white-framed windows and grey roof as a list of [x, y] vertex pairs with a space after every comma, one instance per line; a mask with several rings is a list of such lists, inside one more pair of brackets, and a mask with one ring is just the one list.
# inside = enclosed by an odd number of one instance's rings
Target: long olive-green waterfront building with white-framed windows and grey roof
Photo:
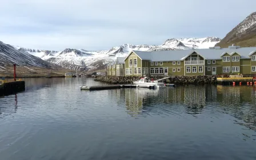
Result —
[[125, 76], [256, 74], [256, 47], [131, 51], [123, 61]]

